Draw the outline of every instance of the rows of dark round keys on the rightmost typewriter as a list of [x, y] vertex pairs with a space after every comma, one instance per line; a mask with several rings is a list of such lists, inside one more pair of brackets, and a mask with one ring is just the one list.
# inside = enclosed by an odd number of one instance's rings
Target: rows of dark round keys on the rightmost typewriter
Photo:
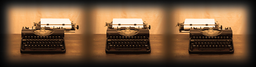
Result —
[[231, 37], [190, 37], [192, 51], [231, 51]]

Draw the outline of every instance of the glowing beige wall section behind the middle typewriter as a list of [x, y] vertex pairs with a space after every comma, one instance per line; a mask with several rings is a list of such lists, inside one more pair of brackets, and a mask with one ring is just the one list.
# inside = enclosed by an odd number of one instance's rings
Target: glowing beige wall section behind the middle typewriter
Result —
[[162, 9], [158, 6], [95, 6], [92, 11], [92, 32], [106, 34], [105, 23], [112, 22], [113, 18], [141, 18], [151, 25], [150, 34], [162, 34]]

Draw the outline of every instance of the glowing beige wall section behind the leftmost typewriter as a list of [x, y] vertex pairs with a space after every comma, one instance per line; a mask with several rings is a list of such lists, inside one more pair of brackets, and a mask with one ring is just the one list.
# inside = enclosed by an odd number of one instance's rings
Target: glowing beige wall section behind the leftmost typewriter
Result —
[[[75, 34], [82, 34], [84, 27], [83, 10], [79, 6], [40, 6], [40, 5], [9, 5], [7, 8], [9, 33], [21, 34], [22, 27], [32, 28], [33, 23], [38, 23], [41, 18], [70, 19], [79, 26]], [[73, 33], [65, 33], [73, 34]]]

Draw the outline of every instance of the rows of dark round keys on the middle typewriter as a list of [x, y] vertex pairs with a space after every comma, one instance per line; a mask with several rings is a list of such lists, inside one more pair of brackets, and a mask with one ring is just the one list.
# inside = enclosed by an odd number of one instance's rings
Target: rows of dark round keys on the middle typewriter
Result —
[[108, 37], [106, 48], [110, 51], [149, 50], [148, 37]]

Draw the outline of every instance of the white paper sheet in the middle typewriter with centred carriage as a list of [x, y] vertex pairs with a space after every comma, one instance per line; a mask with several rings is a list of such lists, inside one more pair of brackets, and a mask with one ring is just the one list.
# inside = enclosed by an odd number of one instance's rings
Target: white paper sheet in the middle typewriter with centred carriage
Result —
[[[114, 29], [120, 29], [121, 27], [135, 27], [136, 29], [142, 29], [143, 25], [134, 24], [143, 24], [142, 19], [113, 19], [112, 24], [121, 24], [121, 25], [112, 25]], [[122, 24], [132, 24], [132, 25], [122, 25]]]

